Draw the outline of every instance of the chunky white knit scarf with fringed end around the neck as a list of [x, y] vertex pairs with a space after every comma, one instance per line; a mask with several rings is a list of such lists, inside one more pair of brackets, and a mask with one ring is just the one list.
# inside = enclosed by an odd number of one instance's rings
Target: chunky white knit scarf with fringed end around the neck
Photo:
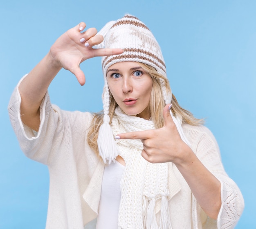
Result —
[[[119, 107], [112, 119], [114, 135], [132, 131], [155, 129], [152, 120], [126, 115]], [[141, 140], [117, 140], [119, 155], [126, 168], [121, 179], [119, 229], [171, 229], [168, 208], [168, 163], [152, 164], [141, 156]], [[161, 199], [159, 226], [155, 216], [155, 202]]]

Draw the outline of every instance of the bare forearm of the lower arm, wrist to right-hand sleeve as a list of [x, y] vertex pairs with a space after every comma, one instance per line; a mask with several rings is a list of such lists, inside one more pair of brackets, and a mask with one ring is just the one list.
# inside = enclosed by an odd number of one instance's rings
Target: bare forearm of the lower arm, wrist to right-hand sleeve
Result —
[[185, 160], [175, 165], [204, 212], [209, 217], [217, 219], [221, 207], [219, 180], [200, 162], [192, 150]]

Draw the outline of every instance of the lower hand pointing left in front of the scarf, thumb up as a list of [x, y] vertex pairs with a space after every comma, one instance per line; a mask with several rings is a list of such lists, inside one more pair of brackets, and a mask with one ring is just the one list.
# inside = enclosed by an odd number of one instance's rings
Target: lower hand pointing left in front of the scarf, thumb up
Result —
[[120, 139], [140, 139], [143, 143], [141, 156], [151, 163], [180, 163], [191, 149], [180, 138], [173, 118], [170, 114], [170, 104], [164, 107], [164, 126], [159, 129], [121, 133]]

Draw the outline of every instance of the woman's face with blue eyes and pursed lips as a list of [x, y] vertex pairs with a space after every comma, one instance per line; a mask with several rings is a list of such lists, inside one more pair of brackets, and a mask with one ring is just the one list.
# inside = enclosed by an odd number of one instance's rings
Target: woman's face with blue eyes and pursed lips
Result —
[[137, 62], [118, 62], [107, 71], [109, 90], [124, 113], [149, 119], [151, 77]]

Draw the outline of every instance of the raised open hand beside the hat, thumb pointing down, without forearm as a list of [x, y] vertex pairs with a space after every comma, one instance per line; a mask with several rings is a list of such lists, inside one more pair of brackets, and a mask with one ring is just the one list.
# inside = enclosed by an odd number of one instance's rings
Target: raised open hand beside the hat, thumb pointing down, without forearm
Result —
[[[123, 52], [123, 49], [93, 49], [92, 46], [103, 41], [103, 36], [97, 35], [95, 28], [89, 28], [82, 32], [85, 27], [85, 23], [81, 22], [63, 33], [49, 52], [56, 68], [71, 71], [81, 85], [85, 84], [85, 75], [79, 67], [83, 61], [95, 56], [111, 56]], [[84, 39], [81, 42], [82, 38]], [[85, 47], [85, 44], [89, 44], [89, 46]]]

